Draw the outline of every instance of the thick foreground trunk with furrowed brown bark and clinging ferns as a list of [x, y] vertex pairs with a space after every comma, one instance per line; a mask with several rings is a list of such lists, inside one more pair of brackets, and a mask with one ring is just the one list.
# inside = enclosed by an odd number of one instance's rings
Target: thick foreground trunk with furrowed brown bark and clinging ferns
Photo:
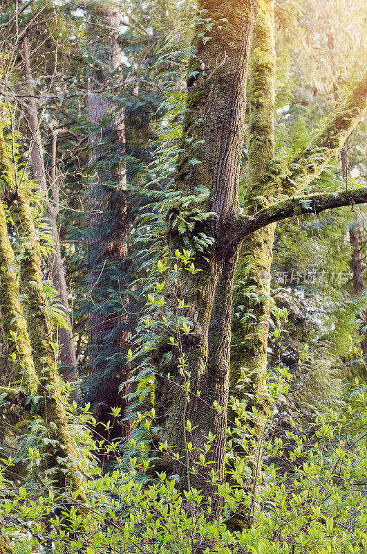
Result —
[[[200, 273], [191, 276], [184, 271], [180, 276], [180, 297], [189, 305], [182, 315], [192, 322], [194, 334], [181, 337], [181, 352], [174, 349], [172, 352], [162, 339], [155, 357], [156, 411], [162, 425], [160, 440], [167, 440], [180, 456], [179, 461], [173, 462], [173, 471], [180, 475], [182, 487], [194, 485], [203, 490], [206, 501], [211, 496], [210, 517], [215, 518], [220, 513], [220, 497], [205, 479], [207, 469], [192, 474], [187, 467], [186, 441], [194, 445], [191, 465], [198, 460], [205, 436], [211, 431], [215, 439], [207, 461], [223, 483], [232, 289], [239, 246], [228, 245], [223, 238], [230, 218], [238, 211], [247, 60], [258, 3], [201, 0], [198, 8], [207, 10], [215, 23], [209, 33], [211, 39], [205, 44], [200, 37], [195, 39], [197, 55], [191, 60], [189, 73], [198, 71], [198, 74], [187, 80], [187, 114], [182, 136], [185, 153], [178, 161], [176, 186], [182, 193], [194, 195], [203, 186], [208, 189], [209, 199], [195, 207], [215, 212], [216, 217], [196, 224], [191, 242], [195, 249], [195, 236], [201, 232], [214, 244], [204, 255], [196, 253]], [[199, 25], [197, 31], [200, 33], [203, 28]], [[200, 163], [190, 163], [193, 159]], [[176, 248], [182, 249], [183, 243], [174, 213], [170, 219], [168, 240], [173, 253]], [[185, 377], [177, 368], [178, 355], [185, 356], [190, 373], [188, 400], [182, 393]], [[213, 407], [215, 401], [218, 409]], [[185, 420], [196, 427], [190, 433], [184, 430]]]

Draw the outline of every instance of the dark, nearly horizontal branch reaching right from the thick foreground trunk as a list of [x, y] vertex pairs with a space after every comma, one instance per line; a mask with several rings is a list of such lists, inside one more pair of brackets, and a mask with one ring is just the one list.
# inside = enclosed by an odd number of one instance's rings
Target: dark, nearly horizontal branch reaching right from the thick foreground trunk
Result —
[[228, 241], [243, 240], [257, 229], [261, 229], [289, 217], [314, 213], [318, 215], [325, 210], [341, 208], [342, 206], [354, 206], [367, 202], [367, 187], [355, 188], [341, 193], [318, 193], [307, 196], [297, 196], [276, 202], [267, 206], [254, 215], [239, 215], [234, 219], [233, 226], [230, 226]]

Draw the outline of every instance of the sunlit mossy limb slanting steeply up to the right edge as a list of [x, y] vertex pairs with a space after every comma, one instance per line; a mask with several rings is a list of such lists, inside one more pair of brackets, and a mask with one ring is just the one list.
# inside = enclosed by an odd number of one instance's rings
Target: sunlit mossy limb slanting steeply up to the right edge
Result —
[[357, 84], [341, 109], [323, 127], [303, 152], [289, 164], [288, 175], [283, 179], [283, 190], [293, 194], [318, 177], [332, 156], [343, 148], [346, 139], [364, 117], [367, 109], [367, 73]]

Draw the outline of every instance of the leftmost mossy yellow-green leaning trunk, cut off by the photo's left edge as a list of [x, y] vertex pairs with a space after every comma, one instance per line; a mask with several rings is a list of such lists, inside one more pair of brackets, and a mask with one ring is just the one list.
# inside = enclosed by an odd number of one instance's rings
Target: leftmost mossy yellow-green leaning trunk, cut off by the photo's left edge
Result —
[[[1, 151], [0, 151], [0, 154]], [[0, 173], [3, 172], [0, 161]], [[12, 383], [21, 386], [27, 393], [37, 388], [37, 375], [32, 359], [27, 323], [19, 302], [19, 283], [15, 256], [8, 236], [6, 213], [0, 201], [0, 313], [4, 337], [7, 339], [12, 370]], [[17, 341], [12, 340], [15, 333]], [[12, 359], [12, 354], [15, 359]]]

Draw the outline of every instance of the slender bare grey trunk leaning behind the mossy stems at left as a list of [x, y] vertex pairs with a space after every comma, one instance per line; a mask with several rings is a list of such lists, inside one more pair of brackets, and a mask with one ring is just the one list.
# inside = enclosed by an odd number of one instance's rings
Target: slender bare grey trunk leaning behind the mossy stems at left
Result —
[[39, 117], [37, 104], [35, 99], [35, 89], [33, 87], [32, 72], [30, 69], [30, 51], [28, 38], [23, 40], [23, 79], [24, 89], [29, 94], [21, 103], [24, 117], [26, 118], [28, 132], [30, 134], [30, 158], [32, 162], [32, 171], [36, 181], [39, 183], [41, 190], [44, 193], [44, 211], [50, 226], [50, 231], [53, 235], [55, 251], [50, 254], [48, 262], [48, 271], [53, 280], [53, 285], [59, 296], [59, 299], [64, 306], [65, 319], [67, 329], [60, 327], [58, 330], [60, 343], [60, 361], [64, 366], [64, 376], [69, 381], [75, 382], [75, 399], [80, 399], [79, 375], [77, 370], [77, 356], [75, 352], [75, 344], [73, 341], [73, 330], [71, 325], [69, 305], [68, 305], [68, 288], [66, 286], [65, 271], [62, 261], [62, 253], [59, 241], [59, 231], [57, 229], [57, 210], [51, 205], [48, 199], [48, 182], [46, 177], [46, 169], [44, 165], [44, 150], [42, 147], [41, 131], [39, 129]]

